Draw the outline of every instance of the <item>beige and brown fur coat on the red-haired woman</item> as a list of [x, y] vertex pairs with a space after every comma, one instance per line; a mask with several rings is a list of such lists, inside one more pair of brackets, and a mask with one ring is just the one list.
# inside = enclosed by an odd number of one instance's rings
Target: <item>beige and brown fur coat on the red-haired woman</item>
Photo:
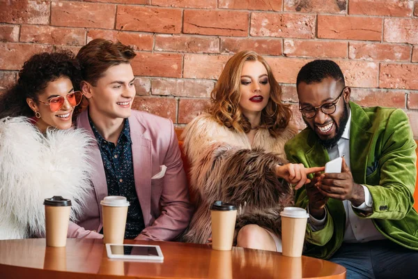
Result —
[[209, 114], [190, 122], [184, 149], [190, 168], [190, 189], [196, 212], [183, 241], [206, 243], [211, 235], [210, 204], [216, 200], [238, 206], [239, 229], [256, 224], [281, 236], [280, 211], [293, 204], [293, 189], [277, 178], [275, 166], [287, 163], [284, 144], [297, 130], [288, 126], [280, 137], [256, 131], [251, 145], [245, 133], [231, 131]]

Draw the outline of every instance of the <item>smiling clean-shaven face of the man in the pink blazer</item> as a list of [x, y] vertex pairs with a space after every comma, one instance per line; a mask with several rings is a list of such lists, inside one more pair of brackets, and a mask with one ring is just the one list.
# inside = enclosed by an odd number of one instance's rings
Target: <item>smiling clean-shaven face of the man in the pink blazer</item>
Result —
[[111, 66], [103, 73], [96, 86], [84, 86], [83, 93], [88, 98], [88, 112], [95, 119], [129, 117], [136, 93], [130, 63]]

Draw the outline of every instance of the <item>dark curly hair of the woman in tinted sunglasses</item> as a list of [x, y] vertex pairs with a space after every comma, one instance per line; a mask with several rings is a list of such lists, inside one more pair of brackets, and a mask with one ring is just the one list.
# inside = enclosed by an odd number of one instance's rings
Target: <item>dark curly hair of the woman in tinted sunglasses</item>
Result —
[[24, 62], [17, 83], [0, 98], [0, 119], [6, 116], [33, 116], [26, 98], [37, 100], [48, 82], [53, 82], [59, 77], [70, 78], [72, 84], [77, 87], [77, 81], [81, 80], [79, 75], [78, 61], [70, 51], [42, 52], [31, 56]]

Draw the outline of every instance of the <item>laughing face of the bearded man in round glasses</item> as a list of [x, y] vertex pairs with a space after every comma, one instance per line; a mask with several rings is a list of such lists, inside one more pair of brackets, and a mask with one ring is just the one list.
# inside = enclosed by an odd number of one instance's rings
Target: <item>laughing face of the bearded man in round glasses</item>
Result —
[[300, 82], [297, 85], [297, 95], [302, 109], [318, 107], [325, 103], [336, 103], [336, 110], [332, 114], [324, 114], [320, 108], [316, 110], [316, 116], [307, 118], [303, 116], [304, 122], [307, 123], [316, 135], [320, 143], [325, 148], [330, 148], [336, 144], [343, 135], [344, 129], [348, 121], [348, 101], [350, 100], [350, 88], [343, 89], [343, 84], [334, 80], [332, 77], [326, 77], [321, 82], [307, 84]]

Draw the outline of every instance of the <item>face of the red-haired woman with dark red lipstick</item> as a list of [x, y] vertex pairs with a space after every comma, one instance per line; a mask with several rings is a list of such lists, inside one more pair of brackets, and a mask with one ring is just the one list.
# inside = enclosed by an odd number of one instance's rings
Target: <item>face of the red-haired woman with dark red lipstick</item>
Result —
[[270, 98], [268, 72], [260, 61], [246, 61], [242, 65], [240, 108], [245, 116], [261, 114]]

